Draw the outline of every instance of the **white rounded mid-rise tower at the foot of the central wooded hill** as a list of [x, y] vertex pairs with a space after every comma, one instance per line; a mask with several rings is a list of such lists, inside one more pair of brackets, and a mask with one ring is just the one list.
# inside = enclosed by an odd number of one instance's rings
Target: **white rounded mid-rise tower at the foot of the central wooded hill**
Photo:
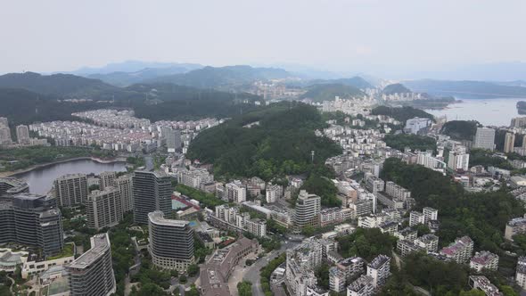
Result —
[[298, 227], [317, 226], [321, 211], [321, 198], [316, 194], [309, 194], [301, 190], [296, 201], [296, 215], [294, 223]]

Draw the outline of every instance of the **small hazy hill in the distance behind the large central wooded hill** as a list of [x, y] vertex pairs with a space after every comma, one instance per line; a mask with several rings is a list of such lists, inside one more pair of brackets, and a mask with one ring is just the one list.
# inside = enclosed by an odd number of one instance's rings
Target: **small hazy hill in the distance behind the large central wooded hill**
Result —
[[353, 96], [365, 95], [355, 86], [343, 84], [320, 84], [309, 86], [307, 93], [300, 95], [301, 99], [310, 99], [314, 102], [333, 101], [335, 96], [348, 99]]

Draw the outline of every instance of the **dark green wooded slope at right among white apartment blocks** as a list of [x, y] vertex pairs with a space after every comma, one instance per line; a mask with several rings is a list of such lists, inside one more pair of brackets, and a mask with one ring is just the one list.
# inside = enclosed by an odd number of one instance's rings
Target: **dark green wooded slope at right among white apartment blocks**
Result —
[[467, 234], [475, 242], [476, 249], [500, 254], [505, 223], [524, 213], [521, 202], [509, 193], [466, 193], [449, 177], [398, 159], [385, 161], [381, 177], [409, 189], [417, 209], [432, 207], [439, 210], [441, 245]]

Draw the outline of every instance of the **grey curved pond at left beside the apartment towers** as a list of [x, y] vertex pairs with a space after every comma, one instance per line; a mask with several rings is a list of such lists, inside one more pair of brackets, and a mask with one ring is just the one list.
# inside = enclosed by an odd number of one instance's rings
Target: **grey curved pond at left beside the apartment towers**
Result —
[[94, 160], [70, 160], [33, 169], [29, 172], [18, 174], [16, 177], [28, 182], [31, 193], [45, 194], [53, 186], [54, 179], [62, 175], [76, 173], [98, 175], [104, 171], [126, 171], [126, 162], [100, 163]]

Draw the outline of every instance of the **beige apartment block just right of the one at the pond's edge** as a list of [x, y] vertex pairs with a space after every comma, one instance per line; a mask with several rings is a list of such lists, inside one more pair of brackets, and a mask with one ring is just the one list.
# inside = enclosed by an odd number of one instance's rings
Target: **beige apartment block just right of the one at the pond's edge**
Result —
[[122, 220], [119, 188], [94, 190], [86, 201], [87, 226], [95, 229], [116, 226]]

